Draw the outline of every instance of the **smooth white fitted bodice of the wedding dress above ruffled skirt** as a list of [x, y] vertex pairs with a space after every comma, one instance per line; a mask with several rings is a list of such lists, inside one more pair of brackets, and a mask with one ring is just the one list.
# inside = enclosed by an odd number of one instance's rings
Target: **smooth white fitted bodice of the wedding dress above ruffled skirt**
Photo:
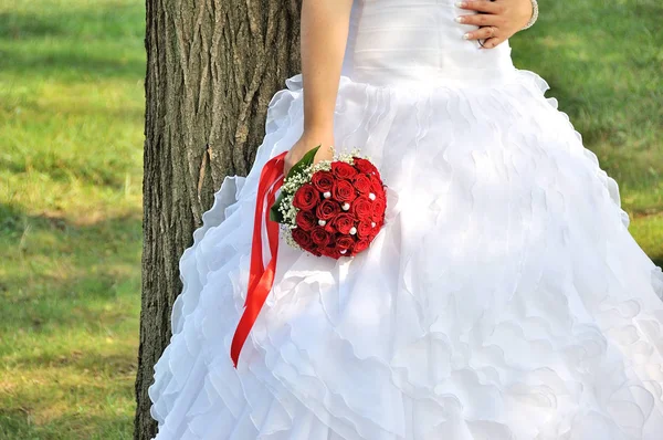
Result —
[[376, 85], [473, 85], [501, 81], [514, 65], [508, 41], [482, 50], [463, 40], [473, 13], [455, 0], [355, 0], [343, 74]]

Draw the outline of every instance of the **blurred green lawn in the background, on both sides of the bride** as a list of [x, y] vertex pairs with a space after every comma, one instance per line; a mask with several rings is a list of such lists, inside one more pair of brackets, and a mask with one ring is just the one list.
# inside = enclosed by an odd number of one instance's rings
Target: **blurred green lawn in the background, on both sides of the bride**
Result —
[[[663, 262], [654, 0], [541, 2], [512, 40]], [[0, 0], [0, 439], [128, 439], [140, 289], [141, 0]]]

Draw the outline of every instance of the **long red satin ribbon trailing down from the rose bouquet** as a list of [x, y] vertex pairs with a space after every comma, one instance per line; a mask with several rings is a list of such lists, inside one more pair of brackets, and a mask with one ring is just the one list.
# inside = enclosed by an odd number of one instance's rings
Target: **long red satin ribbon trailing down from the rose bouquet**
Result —
[[[251, 269], [249, 271], [249, 291], [244, 302], [244, 313], [240, 318], [230, 347], [230, 357], [234, 367], [238, 367], [240, 352], [249, 337], [249, 332], [257, 318], [267, 294], [274, 283], [276, 269], [276, 254], [278, 252], [278, 223], [270, 220], [270, 208], [276, 200], [276, 191], [283, 184], [283, 165], [287, 151], [270, 159], [260, 174], [257, 196], [255, 200], [255, 217], [253, 220], [253, 241], [251, 243]], [[266, 209], [265, 209], [266, 205]], [[267, 241], [270, 242], [271, 260], [263, 265], [262, 249], [262, 219], [265, 219]]]

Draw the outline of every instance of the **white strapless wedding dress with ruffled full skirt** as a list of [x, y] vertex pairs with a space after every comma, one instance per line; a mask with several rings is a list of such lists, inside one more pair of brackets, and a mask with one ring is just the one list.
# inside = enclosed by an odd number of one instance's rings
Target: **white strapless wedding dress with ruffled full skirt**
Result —
[[355, 2], [336, 148], [379, 167], [387, 223], [352, 260], [282, 239], [235, 369], [256, 184], [302, 134], [302, 76], [274, 95], [181, 256], [158, 440], [663, 439], [663, 273], [548, 84], [463, 13]]

